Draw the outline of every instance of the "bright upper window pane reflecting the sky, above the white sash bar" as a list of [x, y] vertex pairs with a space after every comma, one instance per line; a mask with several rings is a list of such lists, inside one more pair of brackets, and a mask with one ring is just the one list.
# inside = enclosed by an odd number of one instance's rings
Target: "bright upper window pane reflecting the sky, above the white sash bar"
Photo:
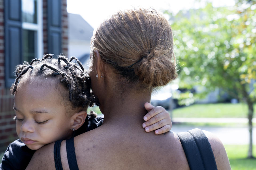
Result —
[[22, 22], [37, 23], [37, 0], [22, 0]]

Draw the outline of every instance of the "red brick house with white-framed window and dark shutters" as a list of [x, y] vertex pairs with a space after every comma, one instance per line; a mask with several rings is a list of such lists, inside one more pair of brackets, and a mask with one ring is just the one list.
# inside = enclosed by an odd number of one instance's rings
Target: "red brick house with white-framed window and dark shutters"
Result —
[[43, 54], [68, 54], [66, 0], [0, 0], [0, 151], [17, 139], [15, 66]]

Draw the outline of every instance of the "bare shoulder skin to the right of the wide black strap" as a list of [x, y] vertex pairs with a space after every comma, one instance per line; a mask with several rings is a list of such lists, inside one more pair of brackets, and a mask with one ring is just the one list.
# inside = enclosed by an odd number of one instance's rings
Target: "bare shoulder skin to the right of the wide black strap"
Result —
[[217, 168], [220, 169], [231, 169], [229, 158], [227, 157], [227, 153], [225, 150], [225, 147], [223, 146], [221, 140], [214, 135], [213, 133], [203, 130], [203, 133], [208, 138], [208, 141], [211, 145], [211, 148], [213, 150], [214, 158], [217, 164]]

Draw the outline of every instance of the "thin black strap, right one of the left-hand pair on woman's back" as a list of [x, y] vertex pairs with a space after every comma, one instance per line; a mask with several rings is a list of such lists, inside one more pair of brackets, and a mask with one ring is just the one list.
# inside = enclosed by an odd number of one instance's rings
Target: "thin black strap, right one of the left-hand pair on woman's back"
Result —
[[67, 161], [69, 162], [69, 169], [79, 170], [77, 165], [77, 158], [75, 157], [74, 138], [66, 140]]

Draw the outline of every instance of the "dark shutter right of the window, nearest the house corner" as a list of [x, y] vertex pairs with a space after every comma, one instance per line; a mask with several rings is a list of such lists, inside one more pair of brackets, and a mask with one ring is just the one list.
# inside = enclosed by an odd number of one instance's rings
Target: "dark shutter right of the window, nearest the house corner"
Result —
[[48, 52], [57, 55], [62, 53], [62, 0], [48, 0]]

